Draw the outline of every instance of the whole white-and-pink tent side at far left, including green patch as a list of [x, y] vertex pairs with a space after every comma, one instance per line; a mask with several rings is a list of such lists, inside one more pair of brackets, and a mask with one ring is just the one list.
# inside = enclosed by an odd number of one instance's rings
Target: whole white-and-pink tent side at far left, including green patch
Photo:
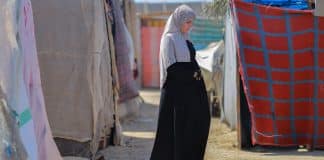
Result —
[[30, 160], [60, 160], [42, 96], [29, 0], [0, 1], [0, 88]]

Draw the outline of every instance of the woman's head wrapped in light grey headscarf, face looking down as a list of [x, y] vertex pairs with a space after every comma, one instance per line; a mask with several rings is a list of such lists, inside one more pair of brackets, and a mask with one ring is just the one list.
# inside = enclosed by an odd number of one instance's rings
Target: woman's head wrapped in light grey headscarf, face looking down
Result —
[[187, 5], [181, 5], [170, 16], [164, 33], [181, 32], [187, 34], [196, 18], [195, 12]]

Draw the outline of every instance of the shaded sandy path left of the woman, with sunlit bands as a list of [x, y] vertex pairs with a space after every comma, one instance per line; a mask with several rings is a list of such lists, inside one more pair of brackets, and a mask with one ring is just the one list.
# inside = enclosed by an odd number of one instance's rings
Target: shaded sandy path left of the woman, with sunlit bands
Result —
[[144, 104], [140, 116], [123, 122], [124, 146], [109, 147], [105, 151], [106, 160], [147, 160], [154, 143], [158, 116], [159, 92], [141, 91]]

